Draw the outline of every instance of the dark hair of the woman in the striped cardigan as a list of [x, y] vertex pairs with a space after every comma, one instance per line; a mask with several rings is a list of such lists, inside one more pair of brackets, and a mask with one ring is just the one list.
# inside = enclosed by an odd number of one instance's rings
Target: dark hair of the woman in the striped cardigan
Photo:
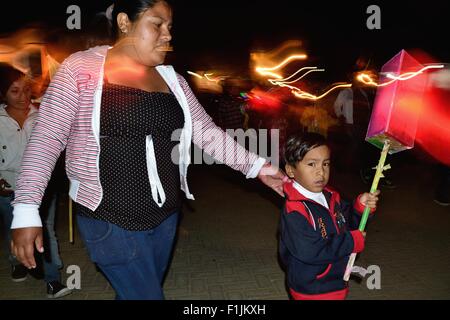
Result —
[[158, 2], [167, 0], [116, 0], [112, 11], [112, 34], [114, 39], [119, 37], [119, 28], [117, 26], [117, 16], [119, 13], [126, 13], [131, 22], [138, 20], [139, 15], [147, 9], [153, 8]]

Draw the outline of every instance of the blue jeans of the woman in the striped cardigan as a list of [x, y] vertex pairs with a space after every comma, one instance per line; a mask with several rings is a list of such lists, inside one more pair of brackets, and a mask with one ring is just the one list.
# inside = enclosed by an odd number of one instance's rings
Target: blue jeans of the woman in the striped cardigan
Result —
[[77, 216], [80, 235], [93, 262], [116, 292], [116, 299], [162, 300], [162, 282], [172, 253], [178, 213], [148, 231]]

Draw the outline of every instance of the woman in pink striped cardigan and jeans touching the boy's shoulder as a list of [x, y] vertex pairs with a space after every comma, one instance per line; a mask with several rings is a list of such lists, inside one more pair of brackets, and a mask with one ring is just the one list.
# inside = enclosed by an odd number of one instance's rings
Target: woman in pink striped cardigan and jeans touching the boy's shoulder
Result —
[[[285, 176], [221, 131], [183, 77], [162, 65], [171, 40], [167, 2], [118, 0], [112, 21], [114, 46], [70, 56], [43, 98], [18, 179], [13, 249], [35, 266], [34, 245], [42, 251], [36, 210], [66, 147], [69, 193], [91, 259], [118, 299], [163, 299], [180, 188], [193, 199], [186, 180], [191, 141], [280, 194]], [[218, 134], [235, 157], [220, 154], [212, 137]]]

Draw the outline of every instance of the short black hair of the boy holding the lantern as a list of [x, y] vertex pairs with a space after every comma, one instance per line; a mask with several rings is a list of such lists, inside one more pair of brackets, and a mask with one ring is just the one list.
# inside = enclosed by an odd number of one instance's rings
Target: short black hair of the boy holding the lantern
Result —
[[321, 134], [295, 133], [288, 137], [284, 145], [284, 161], [286, 164], [295, 167], [297, 162], [302, 161], [308, 151], [320, 147], [328, 146], [327, 139]]

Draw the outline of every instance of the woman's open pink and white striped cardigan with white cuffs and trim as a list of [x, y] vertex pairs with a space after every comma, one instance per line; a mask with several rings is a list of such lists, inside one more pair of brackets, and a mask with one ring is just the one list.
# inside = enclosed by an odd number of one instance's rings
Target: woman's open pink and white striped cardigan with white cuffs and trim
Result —
[[[108, 46], [100, 46], [72, 54], [61, 64], [50, 83], [42, 99], [17, 179], [12, 229], [42, 226], [38, 209], [55, 163], [64, 148], [70, 197], [91, 210], [100, 204], [99, 119], [107, 50]], [[246, 174], [247, 178], [256, 177], [265, 159], [248, 152], [218, 128], [197, 101], [186, 80], [176, 74], [171, 66], [158, 66], [157, 70], [184, 112], [179, 168], [181, 189], [186, 196], [193, 199], [186, 180], [192, 141], [215, 159]], [[217, 136], [221, 139], [217, 139]], [[163, 190], [157, 176], [154, 154], [149, 152], [152, 150], [148, 148], [149, 141], [151, 143], [151, 139], [147, 141], [147, 167], [155, 199], [155, 194], [161, 194]], [[234, 157], [230, 157], [229, 152]]]

